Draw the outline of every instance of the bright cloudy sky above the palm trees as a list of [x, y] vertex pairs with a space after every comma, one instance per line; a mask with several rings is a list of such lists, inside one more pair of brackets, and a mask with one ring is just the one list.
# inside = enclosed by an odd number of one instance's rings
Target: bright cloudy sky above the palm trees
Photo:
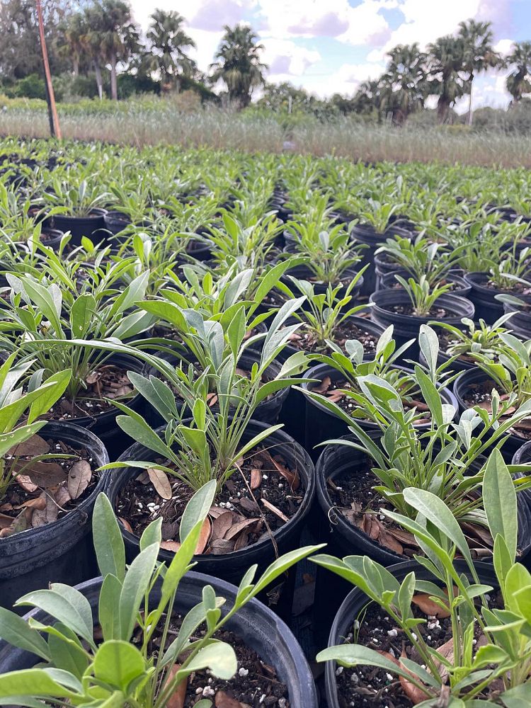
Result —
[[[361, 81], [382, 73], [394, 45], [423, 47], [467, 18], [490, 20], [502, 52], [513, 40], [531, 40], [531, 0], [132, 0], [132, 6], [144, 28], [156, 7], [179, 11], [203, 70], [222, 26], [249, 23], [265, 46], [269, 81], [290, 81], [318, 96], [354, 93]], [[481, 76], [474, 104], [506, 105], [506, 74]]]

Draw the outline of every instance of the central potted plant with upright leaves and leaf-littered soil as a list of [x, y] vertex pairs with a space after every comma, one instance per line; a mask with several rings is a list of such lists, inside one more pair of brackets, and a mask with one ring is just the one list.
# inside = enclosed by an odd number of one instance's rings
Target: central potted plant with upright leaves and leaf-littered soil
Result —
[[[271, 392], [306, 380], [294, 377], [305, 367], [302, 353], [287, 360], [272, 381], [260, 380], [260, 370], [275, 358], [297, 326], [279, 328], [278, 323], [289, 312], [279, 312], [277, 322], [273, 321], [250, 378], [236, 372], [236, 345], [245, 331], [243, 307], [227, 328], [234, 348], [219, 365], [207, 367], [200, 376], [193, 367], [176, 368], [164, 359], [138, 352], [162, 378], [134, 372], [130, 378], [166, 426], [155, 431], [138, 413], [116, 402], [126, 413], [118, 416], [118, 425], [140, 443], [111, 465], [130, 469], [113, 476], [108, 487], [118, 515], [130, 523], [124, 535], [131, 555], [137, 552], [139, 532], [152, 515], [164, 517], [163, 549], [171, 555], [183, 504], [193, 489], [211, 479], [217, 481], [218, 492], [198, 549], [198, 553], [207, 552], [200, 556], [201, 568], [232, 579], [250, 559], [263, 566], [275, 557], [277, 549], [296, 547], [314, 493], [312, 462], [280, 431], [282, 426], [253, 420], [258, 405]], [[219, 324], [214, 329], [221, 333]], [[112, 343], [100, 342], [98, 346], [130, 351]], [[211, 405], [212, 394], [217, 396], [217, 409]], [[181, 409], [177, 401], [182, 401]], [[147, 473], [139, 472], [142, 469]]]

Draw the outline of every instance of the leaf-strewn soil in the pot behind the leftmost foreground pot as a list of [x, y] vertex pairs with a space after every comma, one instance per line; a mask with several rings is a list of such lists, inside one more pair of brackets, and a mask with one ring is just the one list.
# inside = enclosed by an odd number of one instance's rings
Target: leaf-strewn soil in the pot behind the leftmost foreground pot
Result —
[[[97, 416], [114, 409], [112, 400], [130, 399], [135, 389], [127, 378], [127, 370], [114, 364], [103, 364], [86, 377], [86, 390], [74, 401], [66, 396], [50, 409], [52, 421], [72, 421], [85, 416]], [[107, 401], [105, 399], [111, 399]]]

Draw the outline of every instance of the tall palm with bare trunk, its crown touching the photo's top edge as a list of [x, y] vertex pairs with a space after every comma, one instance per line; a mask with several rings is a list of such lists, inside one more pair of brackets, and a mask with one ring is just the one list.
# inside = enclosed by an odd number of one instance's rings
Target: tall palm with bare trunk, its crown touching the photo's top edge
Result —
[[110, 96], [118, 101], [116, 66], [139, 48], [139, 34], [131, 8], [124, 0], [99, 0], [93, 8], [96, 27], [93, 42], [100, 45], [101, 58], [110, 64]]

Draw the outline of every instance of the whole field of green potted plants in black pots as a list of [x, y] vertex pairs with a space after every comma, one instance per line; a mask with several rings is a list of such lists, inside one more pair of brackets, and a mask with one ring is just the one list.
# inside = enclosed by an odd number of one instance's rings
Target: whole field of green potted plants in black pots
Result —
[[530, 183], [0, 142], [0, 705], [530, 706]]

